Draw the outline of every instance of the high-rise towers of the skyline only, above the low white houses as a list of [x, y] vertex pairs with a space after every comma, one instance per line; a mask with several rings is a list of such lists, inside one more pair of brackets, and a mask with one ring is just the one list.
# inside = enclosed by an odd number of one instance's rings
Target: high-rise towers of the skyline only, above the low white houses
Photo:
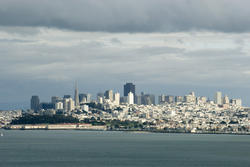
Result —
[[[79, 93], [77, 82], [75, 83], [75, 89], [73, 95], [51, 96], [51, 100], [47, 102], [40, 102], [39, 95], [32, 95], [30, 100], [30, 109], [34, 112], [39, 110], [64, 110], [67, 112], [82, 109], [82, 107], [88, 107], [90, 103], [97, 104], [112, 104], [115, 106], [120, 106], [124, 104], [128, 105], [162, 105], [162, 104], [215, 104], [221, 108], [229, 108], [230, 105], [242, 106], [241, 98], [229, 97], [223, 92], [215, 92], [214, 98], [210, 99], [206, 96], [197, 96], [194, 91], [180, 95], [170, 95], [170, 94], [160, 94], [158, 98], [155, 94], [150, 94], [147, 92], [135, 93], [136, 85], [133, 83], [126, 83], [123, 86], [122, 96], [119, 92], [114, 92], [112, 89], [106, 90], [104, 92], [98, 92], [96, 96], [90, 93]], [[82, 106], [82, 107], [81, 107]], [[247, 107], [247, 106], [245, 106]]]

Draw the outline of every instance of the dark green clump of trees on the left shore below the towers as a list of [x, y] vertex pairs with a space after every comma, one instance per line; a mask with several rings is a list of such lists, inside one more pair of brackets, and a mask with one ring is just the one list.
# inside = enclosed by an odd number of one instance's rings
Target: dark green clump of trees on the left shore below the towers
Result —
[[64, 115], [24, 115], [11, 122], [11, 124], [58, 124], [58, 123], [79, 123], [77, 118]]

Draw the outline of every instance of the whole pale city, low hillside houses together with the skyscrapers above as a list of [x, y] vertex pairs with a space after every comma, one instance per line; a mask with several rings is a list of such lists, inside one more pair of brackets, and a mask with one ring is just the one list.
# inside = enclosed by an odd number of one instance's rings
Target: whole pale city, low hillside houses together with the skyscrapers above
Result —
[[196, 133], [249, 133], [250, 109], [242, 107], [241, 99], [230, 99], [216, 92], [213, 100], [197, 97], [194, 92], [185, 96], [160, 95], [156, 104], [153, 94], [136, 94], [135, 85], [126, 83], [124, 94], [113, 90], [98, 93], [92, 99], [89, 93], [53, 96], [51, 102], [40, 102], [32, 96], [30, 114], [66, 114], [79, 120], [120, 120], [145, 123], [144, 129]]

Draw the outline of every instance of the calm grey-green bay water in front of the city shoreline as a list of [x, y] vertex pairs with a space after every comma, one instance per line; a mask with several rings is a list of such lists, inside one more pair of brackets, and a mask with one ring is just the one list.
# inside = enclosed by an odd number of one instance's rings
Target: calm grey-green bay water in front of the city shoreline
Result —
[[0, 131], [0, 167], [250, 166], [250, 136]]

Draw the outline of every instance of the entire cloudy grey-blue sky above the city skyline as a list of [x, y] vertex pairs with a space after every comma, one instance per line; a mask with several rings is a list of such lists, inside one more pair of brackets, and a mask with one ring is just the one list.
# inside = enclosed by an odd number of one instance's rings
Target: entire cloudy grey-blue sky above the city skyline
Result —
[[0, 109], [107, 89], [250, 106], [248, 0], [0, 0]]

